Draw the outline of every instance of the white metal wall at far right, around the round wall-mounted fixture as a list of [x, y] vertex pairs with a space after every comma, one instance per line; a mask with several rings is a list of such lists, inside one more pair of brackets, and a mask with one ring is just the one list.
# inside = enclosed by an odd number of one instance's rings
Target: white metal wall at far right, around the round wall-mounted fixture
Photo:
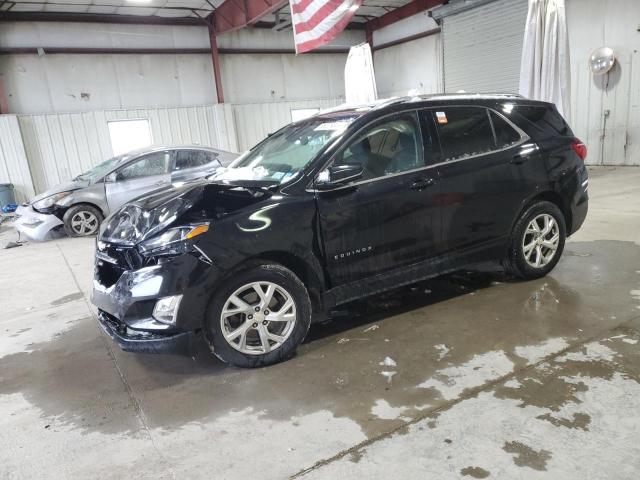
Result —
[[[568, 0], [571, 121], [591, 165], [640, 165], [640, 18], [638, 0]], [[594, 76], [594, 49], [612, 47], [616, 65]]]

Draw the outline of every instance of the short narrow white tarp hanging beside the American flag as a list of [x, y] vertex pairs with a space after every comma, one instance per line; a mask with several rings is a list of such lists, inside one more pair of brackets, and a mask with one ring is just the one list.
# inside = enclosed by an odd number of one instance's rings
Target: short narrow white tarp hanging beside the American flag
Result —
[[344, 96], [350, 105], [369, 103], [378, 98], [373, 57], [368, 43], [349, 49], [344, 67]]

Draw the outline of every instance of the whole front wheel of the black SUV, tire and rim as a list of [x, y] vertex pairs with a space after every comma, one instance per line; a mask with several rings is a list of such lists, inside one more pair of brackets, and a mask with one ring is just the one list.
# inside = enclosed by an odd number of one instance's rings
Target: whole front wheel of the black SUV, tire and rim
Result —
[[255, 368], [290, 358], [311, 325], [311, 301], [300, 279], [278, 264], [259, 264], [223, 282], [207, 312], [214, 354]]

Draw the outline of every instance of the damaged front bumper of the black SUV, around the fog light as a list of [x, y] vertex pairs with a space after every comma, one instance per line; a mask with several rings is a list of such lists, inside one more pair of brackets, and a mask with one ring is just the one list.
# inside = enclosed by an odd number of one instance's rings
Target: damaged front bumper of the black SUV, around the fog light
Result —
[[[144, 353], [186, 353], [202, 328], [216, 269], [192, 254], [135, 268], [132, 249], [99, 248], [91, 301], [102, 329], [120, 348]], [[161, 299], [181, 295], [172, 322], [154, 318]]]

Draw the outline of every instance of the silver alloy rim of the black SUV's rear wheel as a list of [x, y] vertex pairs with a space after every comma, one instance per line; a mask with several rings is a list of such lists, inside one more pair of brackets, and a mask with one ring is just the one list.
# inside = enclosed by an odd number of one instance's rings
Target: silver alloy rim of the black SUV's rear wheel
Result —
[[524, 232], [522, 253], [525, 261], [534, 268], [543, 268], [553, 260], [560, 242], [558, 222], [548, 213], [535, 217]]

